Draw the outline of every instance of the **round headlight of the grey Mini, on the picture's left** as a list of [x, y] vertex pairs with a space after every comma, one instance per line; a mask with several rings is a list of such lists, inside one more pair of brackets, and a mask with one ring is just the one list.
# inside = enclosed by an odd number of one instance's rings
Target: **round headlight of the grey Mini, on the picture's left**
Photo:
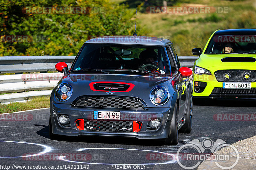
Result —
[[56, 97], [60, 101], [67, 100], [72, 94], [71, 86], [67, 83], [60, 84], [56, 90]]

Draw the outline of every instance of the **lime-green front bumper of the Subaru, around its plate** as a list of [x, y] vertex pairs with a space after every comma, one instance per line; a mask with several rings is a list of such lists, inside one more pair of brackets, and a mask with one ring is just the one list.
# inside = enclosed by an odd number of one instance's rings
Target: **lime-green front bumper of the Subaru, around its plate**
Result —
[[[252, 89], [222, 89], [222, 82], [216, 80], [214, 75], [193, 74], [193, 97], [194, 98], [256, 98], [256, 82], [252, 82]], [[195, 81], [207, 83], [203, 91], [195, 92]]]

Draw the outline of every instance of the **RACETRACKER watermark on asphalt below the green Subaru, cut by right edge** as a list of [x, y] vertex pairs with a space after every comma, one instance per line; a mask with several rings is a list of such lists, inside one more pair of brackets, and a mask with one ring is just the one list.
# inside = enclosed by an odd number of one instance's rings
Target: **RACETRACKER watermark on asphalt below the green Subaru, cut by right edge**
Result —
[[256, 121], [256, 114], [233, 114], [233, 113], [222, 113], [214, 114], [213, 119], [216, 121]]

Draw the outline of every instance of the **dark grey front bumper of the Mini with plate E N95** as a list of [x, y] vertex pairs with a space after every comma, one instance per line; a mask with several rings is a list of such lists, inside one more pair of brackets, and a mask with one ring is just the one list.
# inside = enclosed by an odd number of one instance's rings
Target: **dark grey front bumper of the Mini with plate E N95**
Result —
[[[122, 121], [137, 121], [142, 123], [139, 132], [116, 132], [116, 131], [86, 131], [79, 130], [75, 124], [77, 119], [93, 120], [94, 111], [120, 111]], [[58, 121], [59, 115], [67, 115], [70, 126], [65, 127]], [[50, 119], [52, 123], [52, 133], [65, 136], [113, 136], [113, 137], [132, 137], [139, 139], [167, 138], [170, 131], [173, 108], [148, 108], [147, 110], [121, 110], [121, 109], [91, 109], [76, 108], [69, 104], [53, 103]], [[148, 120], [159, 118], [161, 120], [158, 128], [148, 130]]]

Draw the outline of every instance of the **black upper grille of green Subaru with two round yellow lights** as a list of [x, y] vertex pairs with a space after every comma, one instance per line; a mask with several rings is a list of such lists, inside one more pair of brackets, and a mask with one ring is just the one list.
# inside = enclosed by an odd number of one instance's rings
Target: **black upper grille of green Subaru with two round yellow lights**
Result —
[[[214, 74], [219, 82], [256, 82], [255, 70], [217, 70]], [[226, 79], [225, 74], [230, 77]], [[245, 79], [244, 74], [250, 74], [250, 78]]]

